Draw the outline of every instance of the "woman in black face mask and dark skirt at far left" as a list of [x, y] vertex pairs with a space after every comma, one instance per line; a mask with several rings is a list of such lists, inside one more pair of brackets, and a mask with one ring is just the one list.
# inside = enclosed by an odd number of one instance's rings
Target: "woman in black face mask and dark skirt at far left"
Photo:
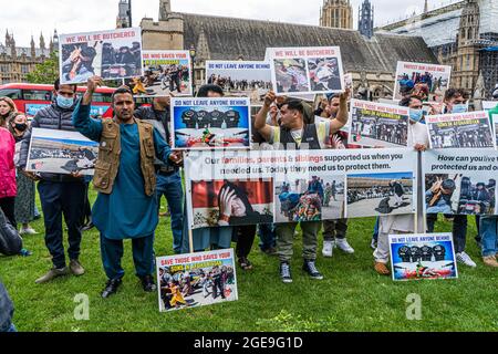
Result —
[[[24, 113], [12, 114], [8, 127], [15, 139], [15, 146], [21, 144], [24, 133], [28, 129], [28, 118]], [[18, 168], [15, 178], [18, 185], [18, 196], [15, 198], [15, 221], [22, 223], [21, 235], [37, 235], [38, 232], [30, 226], [34, 220], [34, 181]]]

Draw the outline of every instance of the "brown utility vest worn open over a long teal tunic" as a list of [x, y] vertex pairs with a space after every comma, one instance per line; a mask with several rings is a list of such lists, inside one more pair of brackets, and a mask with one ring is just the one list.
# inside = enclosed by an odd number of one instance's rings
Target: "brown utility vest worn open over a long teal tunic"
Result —
[[[149, 123], [134, 118], [138, 125], [141, 142], [141, 167], [145, 181], [145, 195], [152, 197], [156, 189], [156, 174], [154, 169], [154, 127]], [[98, 146], [98, 158], [95, 164], [93, 185], [95, 190], [110, 195], [113, 192], [114, 180], [120, 169], [121, 134], [120, 124], [113, 119], [102, 121], [102, 136]]]

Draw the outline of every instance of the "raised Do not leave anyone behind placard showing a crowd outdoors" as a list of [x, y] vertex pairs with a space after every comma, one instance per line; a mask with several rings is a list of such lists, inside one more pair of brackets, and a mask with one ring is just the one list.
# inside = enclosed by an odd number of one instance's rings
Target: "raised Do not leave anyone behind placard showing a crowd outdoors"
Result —
[[261, 106], [271, 90], [271, 71], [267, 62], [206, 61], [206, 83], [224, 88], [227, 96], [250, 97]]

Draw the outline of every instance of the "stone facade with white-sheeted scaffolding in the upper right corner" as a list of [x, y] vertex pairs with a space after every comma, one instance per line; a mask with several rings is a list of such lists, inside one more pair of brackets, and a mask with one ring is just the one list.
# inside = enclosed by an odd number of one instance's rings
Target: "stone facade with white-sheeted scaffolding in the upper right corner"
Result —
[[[422, 1], [422, 0], [421, 0]], [[452, 65], [452, 85], [489, 98], [498, 83], [498, 1], [463, 0], [377, 28], [377, 33], [423, 37], [442, 64]]]

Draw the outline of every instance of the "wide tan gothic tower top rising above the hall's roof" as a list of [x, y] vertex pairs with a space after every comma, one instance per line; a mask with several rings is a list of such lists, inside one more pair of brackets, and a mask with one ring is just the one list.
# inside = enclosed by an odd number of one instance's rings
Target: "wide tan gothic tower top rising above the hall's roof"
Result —
[[323, 0], [320, 25], [334, 29], [353, 29], [353, 8], [350, 0]]

